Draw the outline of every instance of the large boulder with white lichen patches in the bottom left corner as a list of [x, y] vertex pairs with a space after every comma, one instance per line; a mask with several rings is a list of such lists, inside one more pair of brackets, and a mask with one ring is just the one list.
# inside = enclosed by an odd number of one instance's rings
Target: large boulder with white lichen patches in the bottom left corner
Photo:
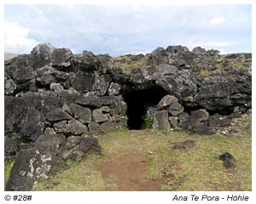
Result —
[[32, 190], [36, 181], [45, 180], [65, 168], [67, 168], [66, 163], [51, 151], [20, 150], [6, 190]]

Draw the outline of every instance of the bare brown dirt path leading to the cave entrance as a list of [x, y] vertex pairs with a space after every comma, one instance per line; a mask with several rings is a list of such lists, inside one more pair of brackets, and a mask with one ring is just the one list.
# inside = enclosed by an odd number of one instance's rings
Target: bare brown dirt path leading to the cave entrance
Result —
[[[144, 135], [148, 130], [131, 130], [130, 134]], [[125, 145], [125, 144], [124, 144]], [[102, 178], [115, 178], [113, 190], [160, 190], [163, 179], [148, 179], [148, 152], [119, 152], [119, 156], [110, 161], [96, 163], [96, 170]]]

